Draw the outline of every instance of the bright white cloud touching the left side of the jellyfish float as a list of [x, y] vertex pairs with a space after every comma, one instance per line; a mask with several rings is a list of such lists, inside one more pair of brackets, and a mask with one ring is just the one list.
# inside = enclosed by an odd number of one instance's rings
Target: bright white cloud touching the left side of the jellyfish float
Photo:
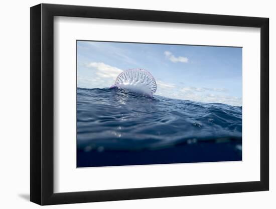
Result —
[[123, 70], [101, 63], [101, 62], [91, 62], [89, 64], [86, 64], [86, 67], [88, 68], [93, 68], [96, 72], [96, 75], [99, 78], [110, 78], [113, 79], [115, 81], [115, 79], [117, 78], [117, 76], [123, 72]]

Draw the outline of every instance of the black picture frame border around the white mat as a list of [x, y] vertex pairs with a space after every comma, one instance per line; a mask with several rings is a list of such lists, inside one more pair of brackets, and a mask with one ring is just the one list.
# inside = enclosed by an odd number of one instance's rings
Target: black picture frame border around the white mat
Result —
[[[260, 181], [54, 193], [54, 16], [260, 28]], [[31, 8], [31, 201], [62, 204], [269, 188], [268, 18], [40, 4]]]

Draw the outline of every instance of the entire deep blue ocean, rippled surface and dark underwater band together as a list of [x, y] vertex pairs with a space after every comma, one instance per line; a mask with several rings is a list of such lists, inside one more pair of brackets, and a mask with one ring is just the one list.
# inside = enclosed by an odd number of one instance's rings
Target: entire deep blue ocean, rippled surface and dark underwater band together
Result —
[[242, 107], [77, 88], [77, 167], [242, 160]]

